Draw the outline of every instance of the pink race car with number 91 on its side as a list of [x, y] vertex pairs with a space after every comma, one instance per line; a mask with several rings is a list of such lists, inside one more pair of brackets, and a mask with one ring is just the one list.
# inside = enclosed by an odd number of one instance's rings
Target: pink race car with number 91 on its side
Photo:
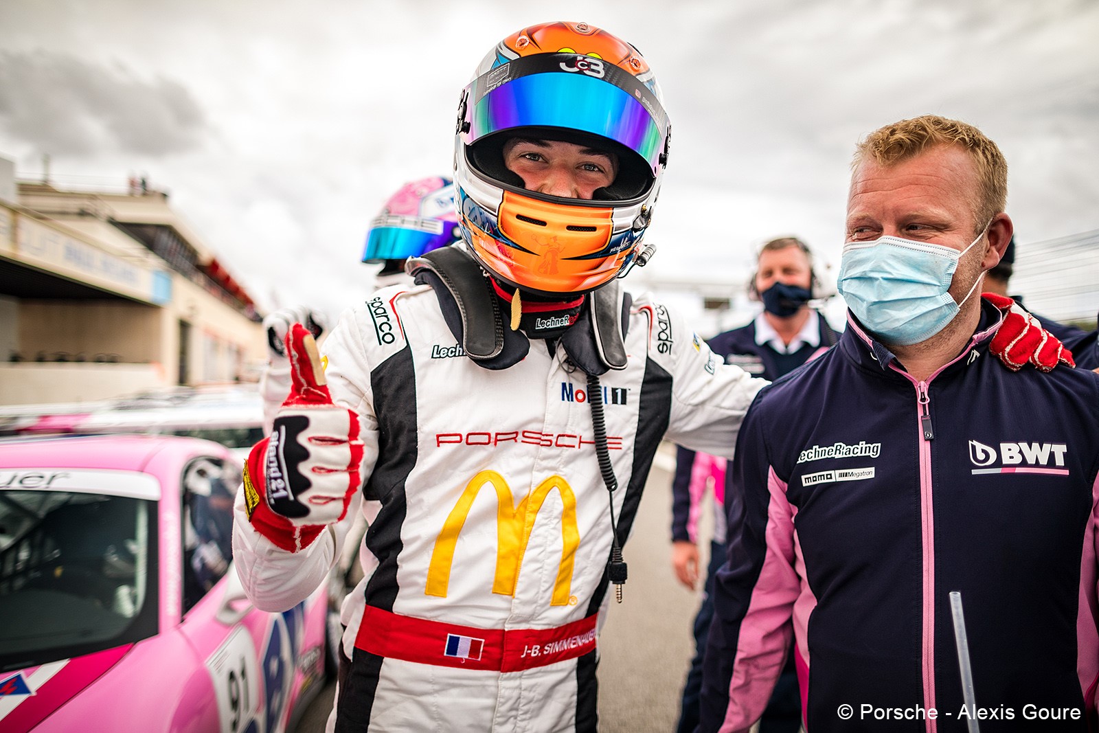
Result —
[[252, 608], [238, 482], [209, 441], [0, 442], [0, 730], [290, 730], [332, 669], [325, 589]]

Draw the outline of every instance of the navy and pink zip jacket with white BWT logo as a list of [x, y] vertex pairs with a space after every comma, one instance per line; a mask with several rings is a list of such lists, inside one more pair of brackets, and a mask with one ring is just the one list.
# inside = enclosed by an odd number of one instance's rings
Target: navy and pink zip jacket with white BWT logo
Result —
[[988, 353], [999, 322], [985, 303], [920, 382], [848, 315], [835, 348], [759, 392], [726, 486], [700, 730], [747, 730], [792, 634], [809, 733], [964, 731], [954, 590], [977, 704], [999, 710], [984, 733], [1094, 721], [1099, 376], [1009, 371]]

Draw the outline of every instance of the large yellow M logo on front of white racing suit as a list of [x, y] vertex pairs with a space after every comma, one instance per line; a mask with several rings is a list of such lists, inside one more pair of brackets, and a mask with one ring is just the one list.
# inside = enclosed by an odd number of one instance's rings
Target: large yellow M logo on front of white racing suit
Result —
[[496, 577], [492, 579], [492, 592], [501, 596], [515, 596], [515, 582], [519, 579], [519, 567], [522, 565], [526, 544], [539, 519], [539, 513], [551, 491], [556, 490], [560, 497], [560, 563], [557, 566], [557, 577], [554, 581], [553, 597], [550, 606], [571, 606], [576, 598], [570, 596], [573, 587], [573, 563], [576, 549], [580, 546], [580, 531], [576, 524], [576, 495], [571, 487], [560, 476], [551, 476], [539, 484], [517, 507], [511, 489], [503, 476], [495, 470], [482, 470], [474, 476], [454, 509], [443, 522], [443, 529], [435, 540], [431, 553], [431, 564], [428, 566], [428, 585], [424, 595], [446, 598], [451, 582], [451, 568], [454, 564], [454, 549], [458, 543], [458, 534], [465, 526], [466, 518], [473, 508], [474, 499], [487, 486], [496, 491]]

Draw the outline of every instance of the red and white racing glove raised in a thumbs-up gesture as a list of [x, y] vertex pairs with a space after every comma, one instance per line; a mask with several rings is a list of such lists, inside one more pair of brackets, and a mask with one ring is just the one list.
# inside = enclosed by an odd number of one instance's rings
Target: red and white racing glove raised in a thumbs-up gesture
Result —
[[271, 434], [244, 467], [244, 504], [260, 534], [289, 552], [309, 545], [343, 519], [359, 488], [363, 442], [358, 415], [332, 402], [317, 342], [300, 323], [286, 336], [290, 396]]

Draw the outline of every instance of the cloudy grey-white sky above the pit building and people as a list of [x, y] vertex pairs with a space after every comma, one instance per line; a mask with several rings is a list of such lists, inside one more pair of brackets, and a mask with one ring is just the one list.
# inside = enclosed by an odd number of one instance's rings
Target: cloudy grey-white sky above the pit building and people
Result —
[[334, 314], [369, 290], [386, 198], [449, 170], [474, 67], [547, 20], [631, 41], [664, 89], [658, 252], [631, 279], [742, 281], [797, 234], [834, 280], [855, 143], [928, 112], [1003, 149], [1020, 247], [1099, 229], [1096, 0], [3, 0], [0, 156], [146, 175], [263, 306]]

